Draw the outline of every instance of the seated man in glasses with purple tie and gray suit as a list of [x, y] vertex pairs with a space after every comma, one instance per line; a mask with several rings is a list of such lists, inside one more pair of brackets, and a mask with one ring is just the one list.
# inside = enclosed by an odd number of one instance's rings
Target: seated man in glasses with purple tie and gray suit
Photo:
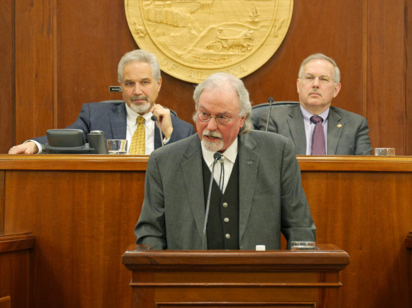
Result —
[[[268, 131], [289, 138], [297, 155], [370, 155], [372, 148], [366, 119], [331, 106], [341, 90], [335, 61], [315, 53], [303, 60], [297, 79], [299, 105], [276, 106]], [[259, 120], [265, 130], [269, 111]]]

